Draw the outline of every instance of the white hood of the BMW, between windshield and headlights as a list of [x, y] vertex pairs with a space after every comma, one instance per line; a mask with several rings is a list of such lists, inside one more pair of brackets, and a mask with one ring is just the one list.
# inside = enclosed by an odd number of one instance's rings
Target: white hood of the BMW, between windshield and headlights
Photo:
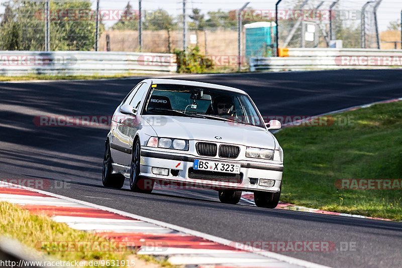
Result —
[[143, 118], [152, 126], [158, 137], [275, 148], [273, 135], [258, 126], [183, 116], [143, 115]]

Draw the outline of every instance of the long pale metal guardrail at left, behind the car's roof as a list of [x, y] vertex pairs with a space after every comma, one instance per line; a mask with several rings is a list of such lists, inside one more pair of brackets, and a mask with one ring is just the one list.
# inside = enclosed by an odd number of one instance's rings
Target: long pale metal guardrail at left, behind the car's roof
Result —
[[0, 51], [0, 75], [113, 75], [175, 72], [174, 54], [88, 51]]

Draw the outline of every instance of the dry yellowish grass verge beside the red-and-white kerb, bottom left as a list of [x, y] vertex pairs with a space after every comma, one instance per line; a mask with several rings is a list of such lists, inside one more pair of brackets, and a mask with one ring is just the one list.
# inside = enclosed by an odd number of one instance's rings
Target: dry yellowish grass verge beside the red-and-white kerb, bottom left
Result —
[[[31, 214], [28, 210], [7, 202], [0, 202], [0, 233], [17, 239], [29, 248], [35, 248], [54, 259], [69, 262], [85, 261], [84, 267], [94, 267], [90, 264], [93, 264], [93, 261], [100, 260], [109, 260], [109, 263], [96, 267], [127, 267], [121, 262], [121, 260], [127, 259], [130, 260], [130, 263], [131, 260], [134, 260], [136, 267], [175, 267], [165, 259], [134, 255], [134, 251], [103, 250], [107, 248], [105, 246], [110, 245], [109, 240], [88, 232], [72, 229], [65, 223], [51, 220], [48, 216]], [[66, 247], [60, 242], [70, 242], [73, 245], [89, 242], [90, 245], [86, 247], [76, 246], [72, 247], [73, 250], [66, 250]], [[49, 247], [49, 245], [51, 246]], [[98, 245], [101, 247], [99, 248]], [[88, 248], [91, 250], [87, 250]], [[115, 265], [112, 265], [113, 260], [115, 260]], [[118, 262], [118, 260], [120, 261]]]

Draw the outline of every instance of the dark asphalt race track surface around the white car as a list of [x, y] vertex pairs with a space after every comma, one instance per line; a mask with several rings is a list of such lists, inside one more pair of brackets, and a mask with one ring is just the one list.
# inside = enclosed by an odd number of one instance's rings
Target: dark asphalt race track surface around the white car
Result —
[[[315, 115], [402, 97], [401, 77], [399, 70], [342, 70], [188, 79], [244, 89], [263, 115]], [[127, 181], [122, 190], [107, 189], [101, 171], [108, 129], [33, 123], [37, 115], [112, 115], [139, 80], [1, 83], [0, 179], [44, 179], [46, 191], [235, 241], [331, 241], [338, 250], [282, 252], [328, 266], [400, 266], [400, 222], [221, 204], [210, 190], [147, 195], [130, 192]], [[60, 181], [69, 183], [58, 189]], [[356, 250], [341, 251], [341, 242]]]

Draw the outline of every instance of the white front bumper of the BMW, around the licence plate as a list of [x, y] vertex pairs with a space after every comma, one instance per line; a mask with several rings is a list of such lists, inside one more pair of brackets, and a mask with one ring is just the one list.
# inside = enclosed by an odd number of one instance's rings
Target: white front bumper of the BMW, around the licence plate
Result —
[[[242, 176], [240, 183], [224, 182], [222, 180], [191, 179], [189, 169], [192, 168], [195, 159], [219, 161], [232, 164], [241, 164], [240, 173]], [[197, 185], [212, 189], [236, 189], [243, 191], [280, 191], [282, 181], [283, 165], [265, 164], [253, 161], [233, 161], [209, 157], [199, 157], [186, 154], [172, 154], [154, 150], [141, 149], [141, 169], [140, 176], [153, 178], [160, 181], [176, 182], [177, 185]], [[152, 173], [152, 168], [169, 169], [169, 175], [156, 175]], [[171, 172], [174, 170], [176, 172]], [[177, 173], [173, 176], [172, 173]], [[176, 175], [176, 174], [175, 174]], [[260, 179], [274, 180], [272, 187], [260, 186]]]

